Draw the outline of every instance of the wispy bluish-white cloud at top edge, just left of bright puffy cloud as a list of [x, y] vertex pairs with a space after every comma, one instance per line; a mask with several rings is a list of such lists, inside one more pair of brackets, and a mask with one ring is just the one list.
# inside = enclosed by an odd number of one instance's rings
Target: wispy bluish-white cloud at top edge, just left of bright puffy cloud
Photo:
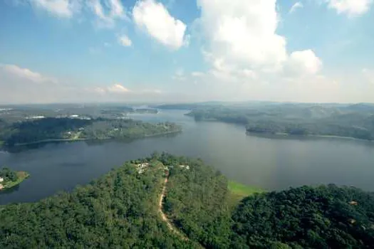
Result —
[[98, 17], [98, 26], [100, 28], [112, 28], [115, 20], [126, 18], [125, 10], [120, 0], [90, 0], [88, 5], [93, 13]]

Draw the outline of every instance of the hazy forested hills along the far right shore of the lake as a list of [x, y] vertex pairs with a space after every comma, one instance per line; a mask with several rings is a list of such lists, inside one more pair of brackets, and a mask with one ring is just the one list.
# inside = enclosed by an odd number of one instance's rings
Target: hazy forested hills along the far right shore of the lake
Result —
[[271, 104], [196, 107], [195, 120], [246, 125], [265, 134], [323, 135], [374, 140], [374, 105]]

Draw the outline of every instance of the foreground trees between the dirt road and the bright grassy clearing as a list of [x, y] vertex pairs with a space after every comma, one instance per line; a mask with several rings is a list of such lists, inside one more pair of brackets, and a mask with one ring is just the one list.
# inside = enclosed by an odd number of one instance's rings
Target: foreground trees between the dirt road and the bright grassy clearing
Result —
[[228, 248], [227, 179], [202, 161], [179, 159], [172, 165], [165, 198], [167, 216], [205, 248]]

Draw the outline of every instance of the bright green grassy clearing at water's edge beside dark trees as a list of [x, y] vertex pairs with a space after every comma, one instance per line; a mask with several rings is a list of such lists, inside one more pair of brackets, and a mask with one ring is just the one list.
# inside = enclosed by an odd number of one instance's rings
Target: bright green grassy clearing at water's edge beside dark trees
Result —
[[239, 203], [239, 201], [241, 201], [246, 196], [265, 192], [263, 189], [254, 186], [246, 186], [236, 181], [229, 181], [228, 188], [230, 193], [229, 204], [232, 207], [237, 206], [237, 203]]

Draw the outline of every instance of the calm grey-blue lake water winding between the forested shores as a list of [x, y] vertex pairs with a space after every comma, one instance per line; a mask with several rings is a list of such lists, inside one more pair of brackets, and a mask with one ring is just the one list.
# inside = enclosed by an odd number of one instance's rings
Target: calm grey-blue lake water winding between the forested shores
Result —
[[304, 184], [354, 185], [374, 191], [374, 143], [343, 139], [269, 139], [247, 136], [244, 127], [194, 122], [181, 111], [134, 115], [147, 122], [182, 124], [182, 134], [133, 142], [45, 144], [17, 153], [0, 152], [0, 165], [31, 173], [0, 204], [37, 201], [87, 184], [124, 161], [155, 150], [200, 157], [229, 179], [264, 189]]

